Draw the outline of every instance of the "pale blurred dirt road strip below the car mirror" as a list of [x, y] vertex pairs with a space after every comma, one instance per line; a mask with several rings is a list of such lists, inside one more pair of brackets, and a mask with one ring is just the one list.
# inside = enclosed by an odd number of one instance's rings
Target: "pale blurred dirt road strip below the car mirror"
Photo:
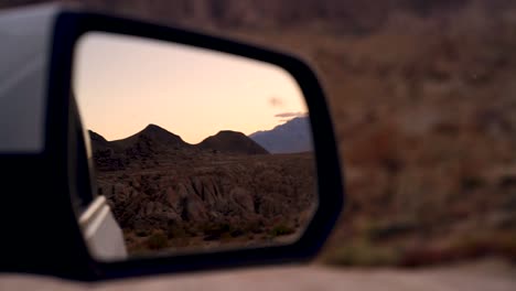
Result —
[[357, 291], [513, 291], [516, 266], [501, 260], [421, 270], [357, 270], [290, 266], [166, 276], [143, 280], [84, 284], [29, 276], [0, 276], [0, 290], [357, 290]]

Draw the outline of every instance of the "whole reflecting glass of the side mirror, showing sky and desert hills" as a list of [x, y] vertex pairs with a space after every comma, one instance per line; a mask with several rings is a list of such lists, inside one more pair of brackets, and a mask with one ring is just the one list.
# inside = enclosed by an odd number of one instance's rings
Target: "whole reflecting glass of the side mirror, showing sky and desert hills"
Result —
[[299, 238], [316, 177], [304, 98], [282, 68], [97, 32], [82, 36], [74, 61], [97, 194], [116, 220], [80, 217], [97, 259], [120, 258], [109, 255], [117, 224], [129, 256]]

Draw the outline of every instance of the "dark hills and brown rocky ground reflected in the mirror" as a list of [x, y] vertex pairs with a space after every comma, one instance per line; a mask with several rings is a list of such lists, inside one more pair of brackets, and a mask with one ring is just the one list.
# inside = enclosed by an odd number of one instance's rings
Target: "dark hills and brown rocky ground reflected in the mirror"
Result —
[[316, 206], [311, 153], [269, 154], [234, 131], [189, 144], [154, 125], [90, 137], [98, 193], [133, 255], [288, 241]]

